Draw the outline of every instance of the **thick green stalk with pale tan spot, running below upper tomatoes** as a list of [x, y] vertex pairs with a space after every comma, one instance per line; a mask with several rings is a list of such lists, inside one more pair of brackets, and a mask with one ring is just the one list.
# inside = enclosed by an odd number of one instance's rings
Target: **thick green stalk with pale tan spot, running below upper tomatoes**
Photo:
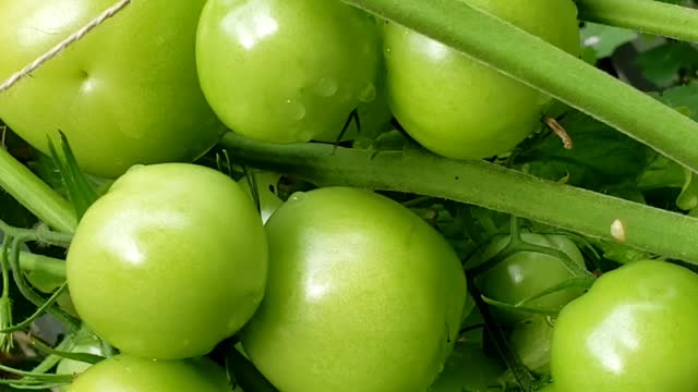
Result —
[[220, 144], [236, 162], [294, 174], [323, 186], [357, 186], [452, 199], [593, 237], [624, 236], [629, 246], [698, 264], [698, 219], [544, 181], [485, 161], [456, 161], [421, 149], [384, 151], [371, 158], [368, 150], [337, 148], [333, 152], [332, 146], [321, 144], [273, 145], [233, 133], [226, 134]]

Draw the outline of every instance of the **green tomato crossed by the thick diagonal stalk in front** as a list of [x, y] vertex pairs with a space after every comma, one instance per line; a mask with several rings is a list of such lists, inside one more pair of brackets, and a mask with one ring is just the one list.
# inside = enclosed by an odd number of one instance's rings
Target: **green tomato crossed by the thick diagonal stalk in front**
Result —
[[[579, 52], [570, 0], [464, 0], [573, 53]], [[400, 25], [384, 28], [393, 114], [435, 154], [456, 159], [513, 149], [539, 123], [551, 98]], [[493, 44], [494, 45], [494, 44]]]

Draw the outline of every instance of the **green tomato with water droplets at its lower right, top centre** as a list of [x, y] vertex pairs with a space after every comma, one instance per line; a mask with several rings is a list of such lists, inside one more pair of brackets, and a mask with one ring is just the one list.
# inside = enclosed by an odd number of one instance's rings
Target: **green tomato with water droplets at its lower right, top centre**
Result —
[[250, 138], [336, 138], [349, 113], [375, 98], [377, 29], [340, 1], [209, 0], [196, 63], [218, 117]]

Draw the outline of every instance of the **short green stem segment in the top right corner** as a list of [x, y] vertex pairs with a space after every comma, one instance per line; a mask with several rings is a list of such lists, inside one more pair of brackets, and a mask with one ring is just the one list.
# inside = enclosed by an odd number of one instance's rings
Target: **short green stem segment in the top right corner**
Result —
[[698, 42], [698, 10], [655, 0], [577, 0], [585, 21]]

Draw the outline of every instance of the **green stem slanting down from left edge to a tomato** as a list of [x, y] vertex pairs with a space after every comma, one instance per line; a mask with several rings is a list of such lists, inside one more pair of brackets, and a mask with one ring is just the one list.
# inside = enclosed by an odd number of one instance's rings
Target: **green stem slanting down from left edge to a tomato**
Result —
[[70, 204], [3, 148], [0, 148], [0, 187], [55, 230], [75, 230], [77, 220]]

